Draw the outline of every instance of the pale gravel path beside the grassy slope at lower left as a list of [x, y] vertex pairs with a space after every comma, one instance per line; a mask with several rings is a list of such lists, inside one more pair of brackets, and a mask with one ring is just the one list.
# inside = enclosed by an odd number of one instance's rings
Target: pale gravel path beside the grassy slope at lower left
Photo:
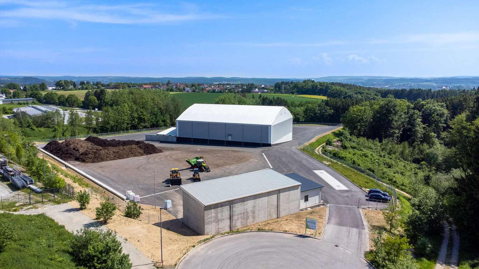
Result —
[[[65, 228], [70, 232], [80, 230], [82, 227], [100, 227], [101, 229], [108, 229], [67, 203], [45, 205], [41, 208], [15, 212], [14, 214], [33, 215], [41, 213], [45, 213], [50, 218], [54, 219], [58, 224], [64, 225]], [[152, 265], [147, 265], [151, 263], [150, 259], [141, 253], [129, 241], [120, 235], [116, 235], [116, 238], [121, 242], [123, 252], [130, 255], [130, 261], [133, 263], [133, 267], [135, 269], [154, 268]]]

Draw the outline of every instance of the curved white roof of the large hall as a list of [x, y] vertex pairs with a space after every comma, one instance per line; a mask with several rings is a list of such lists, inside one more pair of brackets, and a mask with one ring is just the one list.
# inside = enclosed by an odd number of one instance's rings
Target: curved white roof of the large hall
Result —
[[176, 120], [273, 125], [291, 118], [293, 116], [283, 106], [194, 104]]

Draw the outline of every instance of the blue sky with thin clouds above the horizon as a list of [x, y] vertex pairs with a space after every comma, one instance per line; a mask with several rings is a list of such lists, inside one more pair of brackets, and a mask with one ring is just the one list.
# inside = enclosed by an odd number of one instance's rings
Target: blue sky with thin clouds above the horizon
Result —
[[479, 1], [0, 0], [0, 75], [479, 76]]

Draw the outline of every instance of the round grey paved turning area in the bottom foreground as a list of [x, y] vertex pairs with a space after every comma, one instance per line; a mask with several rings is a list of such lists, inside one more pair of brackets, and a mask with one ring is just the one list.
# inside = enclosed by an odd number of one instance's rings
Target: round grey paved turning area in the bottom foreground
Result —
[[178, 269], [373, 268], [342, 247], [302, 235], [275, 232], [230, 234], [194, 248]]

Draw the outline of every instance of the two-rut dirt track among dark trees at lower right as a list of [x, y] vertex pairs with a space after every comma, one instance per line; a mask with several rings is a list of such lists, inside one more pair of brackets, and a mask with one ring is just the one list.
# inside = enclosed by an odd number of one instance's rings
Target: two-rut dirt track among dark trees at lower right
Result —
[[[447, 221], [443, 222], [444, 224], [444, 238], [441, 245], [441, 250], [439, 251], [439, 256], [437, 257], [436, 266], [434, 269], [457, 269], [457, 262], [459, 257], [459, 235], [456, 232], [456, 226], [449, 227]], [[447, 244], [449, 244], [449, 235], [452, 229], [453, 233], [453, 247], [451, 259], [446, 261], [447, 256]]]

